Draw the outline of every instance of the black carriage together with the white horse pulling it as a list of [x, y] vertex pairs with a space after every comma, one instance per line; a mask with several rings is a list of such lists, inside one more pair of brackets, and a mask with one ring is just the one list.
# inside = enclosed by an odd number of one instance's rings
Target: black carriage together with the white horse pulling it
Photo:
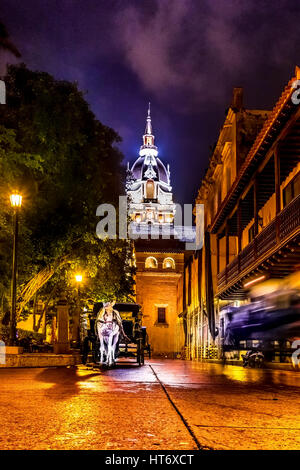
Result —
[[145, 352], [150, 357], [150, 345], [146, 327], [142, 326], [140, 305], [100, 303], [94, 313], [89, 334], [83, 341], [83, 363], [91, 350], [94, 363], [113, 366], [122, 357], [143, 365]]

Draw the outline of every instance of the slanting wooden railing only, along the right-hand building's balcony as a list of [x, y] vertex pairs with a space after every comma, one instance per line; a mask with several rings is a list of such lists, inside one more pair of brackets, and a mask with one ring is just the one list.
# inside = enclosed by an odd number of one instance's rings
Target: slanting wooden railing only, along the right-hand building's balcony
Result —
[[249, 245], [247, 245], [224, 271], [218, 274], [218, 291], [221, 291], [228, 283], [246, 272], [259, 258], [263, 258], [276, 245], [281, 244], [297, 228], [300, 227], [300, 195], [291, 201], [272, 220]]

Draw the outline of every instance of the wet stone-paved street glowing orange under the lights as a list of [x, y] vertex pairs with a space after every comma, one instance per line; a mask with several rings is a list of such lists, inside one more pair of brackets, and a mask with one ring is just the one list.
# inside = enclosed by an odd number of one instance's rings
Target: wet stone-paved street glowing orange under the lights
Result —
[[299, 449], [300, 374], [184, 361], [0, 370], [2, 449]]

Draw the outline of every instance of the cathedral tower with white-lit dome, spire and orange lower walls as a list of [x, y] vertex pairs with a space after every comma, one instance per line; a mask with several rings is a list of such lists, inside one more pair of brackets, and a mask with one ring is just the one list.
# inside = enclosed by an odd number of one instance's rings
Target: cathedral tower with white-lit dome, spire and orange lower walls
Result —
[[126, 188], [129, 230], [135, 237], [136, 301], [142, 306], [152, 353], [174, 357], [184, 345], [177, 322], [185, 245], [174, 236], [170, 169], [154, 145], [150, 106], [139, 156], [128, 165]]

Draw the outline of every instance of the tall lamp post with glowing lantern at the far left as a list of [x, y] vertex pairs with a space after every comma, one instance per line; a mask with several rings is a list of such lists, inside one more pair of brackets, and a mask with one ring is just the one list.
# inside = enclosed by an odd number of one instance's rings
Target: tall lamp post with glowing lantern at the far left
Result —
[[19, 229], [19, 209], [22, 206], [22, 196], [15, 192], [10, 195], [10, 204], [14, 211], [13, 217], [13, 262], [12, 262], [12, 279], [11, 279], [11, 316], [9, 329], [9, 345], [14, 346], [16, 343], [17, 330], [17, 263], [18, 263], [18, 229]]

